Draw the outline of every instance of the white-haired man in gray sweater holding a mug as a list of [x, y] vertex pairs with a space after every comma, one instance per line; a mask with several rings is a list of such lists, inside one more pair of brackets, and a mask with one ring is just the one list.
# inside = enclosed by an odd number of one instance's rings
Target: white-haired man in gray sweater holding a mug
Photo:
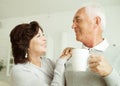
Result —
[[[76, 40], [92, 53], [85, 72], [72, 71], [71, 59], [66, 64], [66, 86], [120, 86], [120, 50], [102, 36], [105, 15], [99, 6], [81, 7], [73, 18]], [[93, 54], [94, 53], [94, 54]]]

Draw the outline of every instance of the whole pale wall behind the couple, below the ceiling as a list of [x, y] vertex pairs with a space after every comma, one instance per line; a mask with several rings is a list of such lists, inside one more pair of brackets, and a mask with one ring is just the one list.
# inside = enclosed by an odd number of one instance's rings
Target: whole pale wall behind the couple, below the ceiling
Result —
[[[104, 35], [113, 44], [120, 45], [118, 38], [120, 33], [120, 7], [105, 7], [105, 10], [107, 15], [107, 27]], [[8, 47], [10, 46], [9, 31], [20, 23], [30, 22], [32, 20], [38, 21], [48, 36], [47, 57], [51, 59], [58, 58], [62, 49], [67, 46], [80, 47], [81, 43], [76, 42], [74, 32], [71, 29], [74, 13], [75, 11], [69, 11], [1, 20], [0, 58], [7, 58]]]

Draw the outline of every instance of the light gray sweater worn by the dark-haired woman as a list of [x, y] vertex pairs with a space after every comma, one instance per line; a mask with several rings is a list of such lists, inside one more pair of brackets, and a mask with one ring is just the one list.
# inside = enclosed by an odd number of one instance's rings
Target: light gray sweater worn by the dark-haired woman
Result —
[[11, 86], [64, 86], [64, 64], [59, 59], [56, 65], [48, 58], [42, 58], [42, 66], [30, 62], [17, 64], [11, 73]]

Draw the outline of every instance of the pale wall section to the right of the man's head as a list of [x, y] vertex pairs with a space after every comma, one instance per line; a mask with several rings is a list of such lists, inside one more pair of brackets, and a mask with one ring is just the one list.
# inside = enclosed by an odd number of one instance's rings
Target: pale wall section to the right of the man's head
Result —
[[108, 38], [108, 40], [116, 44], [117, 46], [120, 45], [120, 6], [114, 6], [114, 7], [107, 7], [106, 8], [106, 30], [105, 30], [105, 36]]

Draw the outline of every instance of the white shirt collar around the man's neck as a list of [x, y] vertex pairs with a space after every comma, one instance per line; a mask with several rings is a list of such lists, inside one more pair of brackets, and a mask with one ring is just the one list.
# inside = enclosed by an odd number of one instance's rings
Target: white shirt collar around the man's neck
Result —
[[[96, 45], [96, 46], [94, 46], [93, 48], [90, 48], [90, 49], [95, 49], [95, 50], [99, 50], [99, 51], [105, 51], [108, 46], [109, 46], [108, 41], [106, 39], [104, 39], [101, 43], [99, 43], [98, 45]], [[82, 48], [89, 49], [85, 45], [83, 45]]]

